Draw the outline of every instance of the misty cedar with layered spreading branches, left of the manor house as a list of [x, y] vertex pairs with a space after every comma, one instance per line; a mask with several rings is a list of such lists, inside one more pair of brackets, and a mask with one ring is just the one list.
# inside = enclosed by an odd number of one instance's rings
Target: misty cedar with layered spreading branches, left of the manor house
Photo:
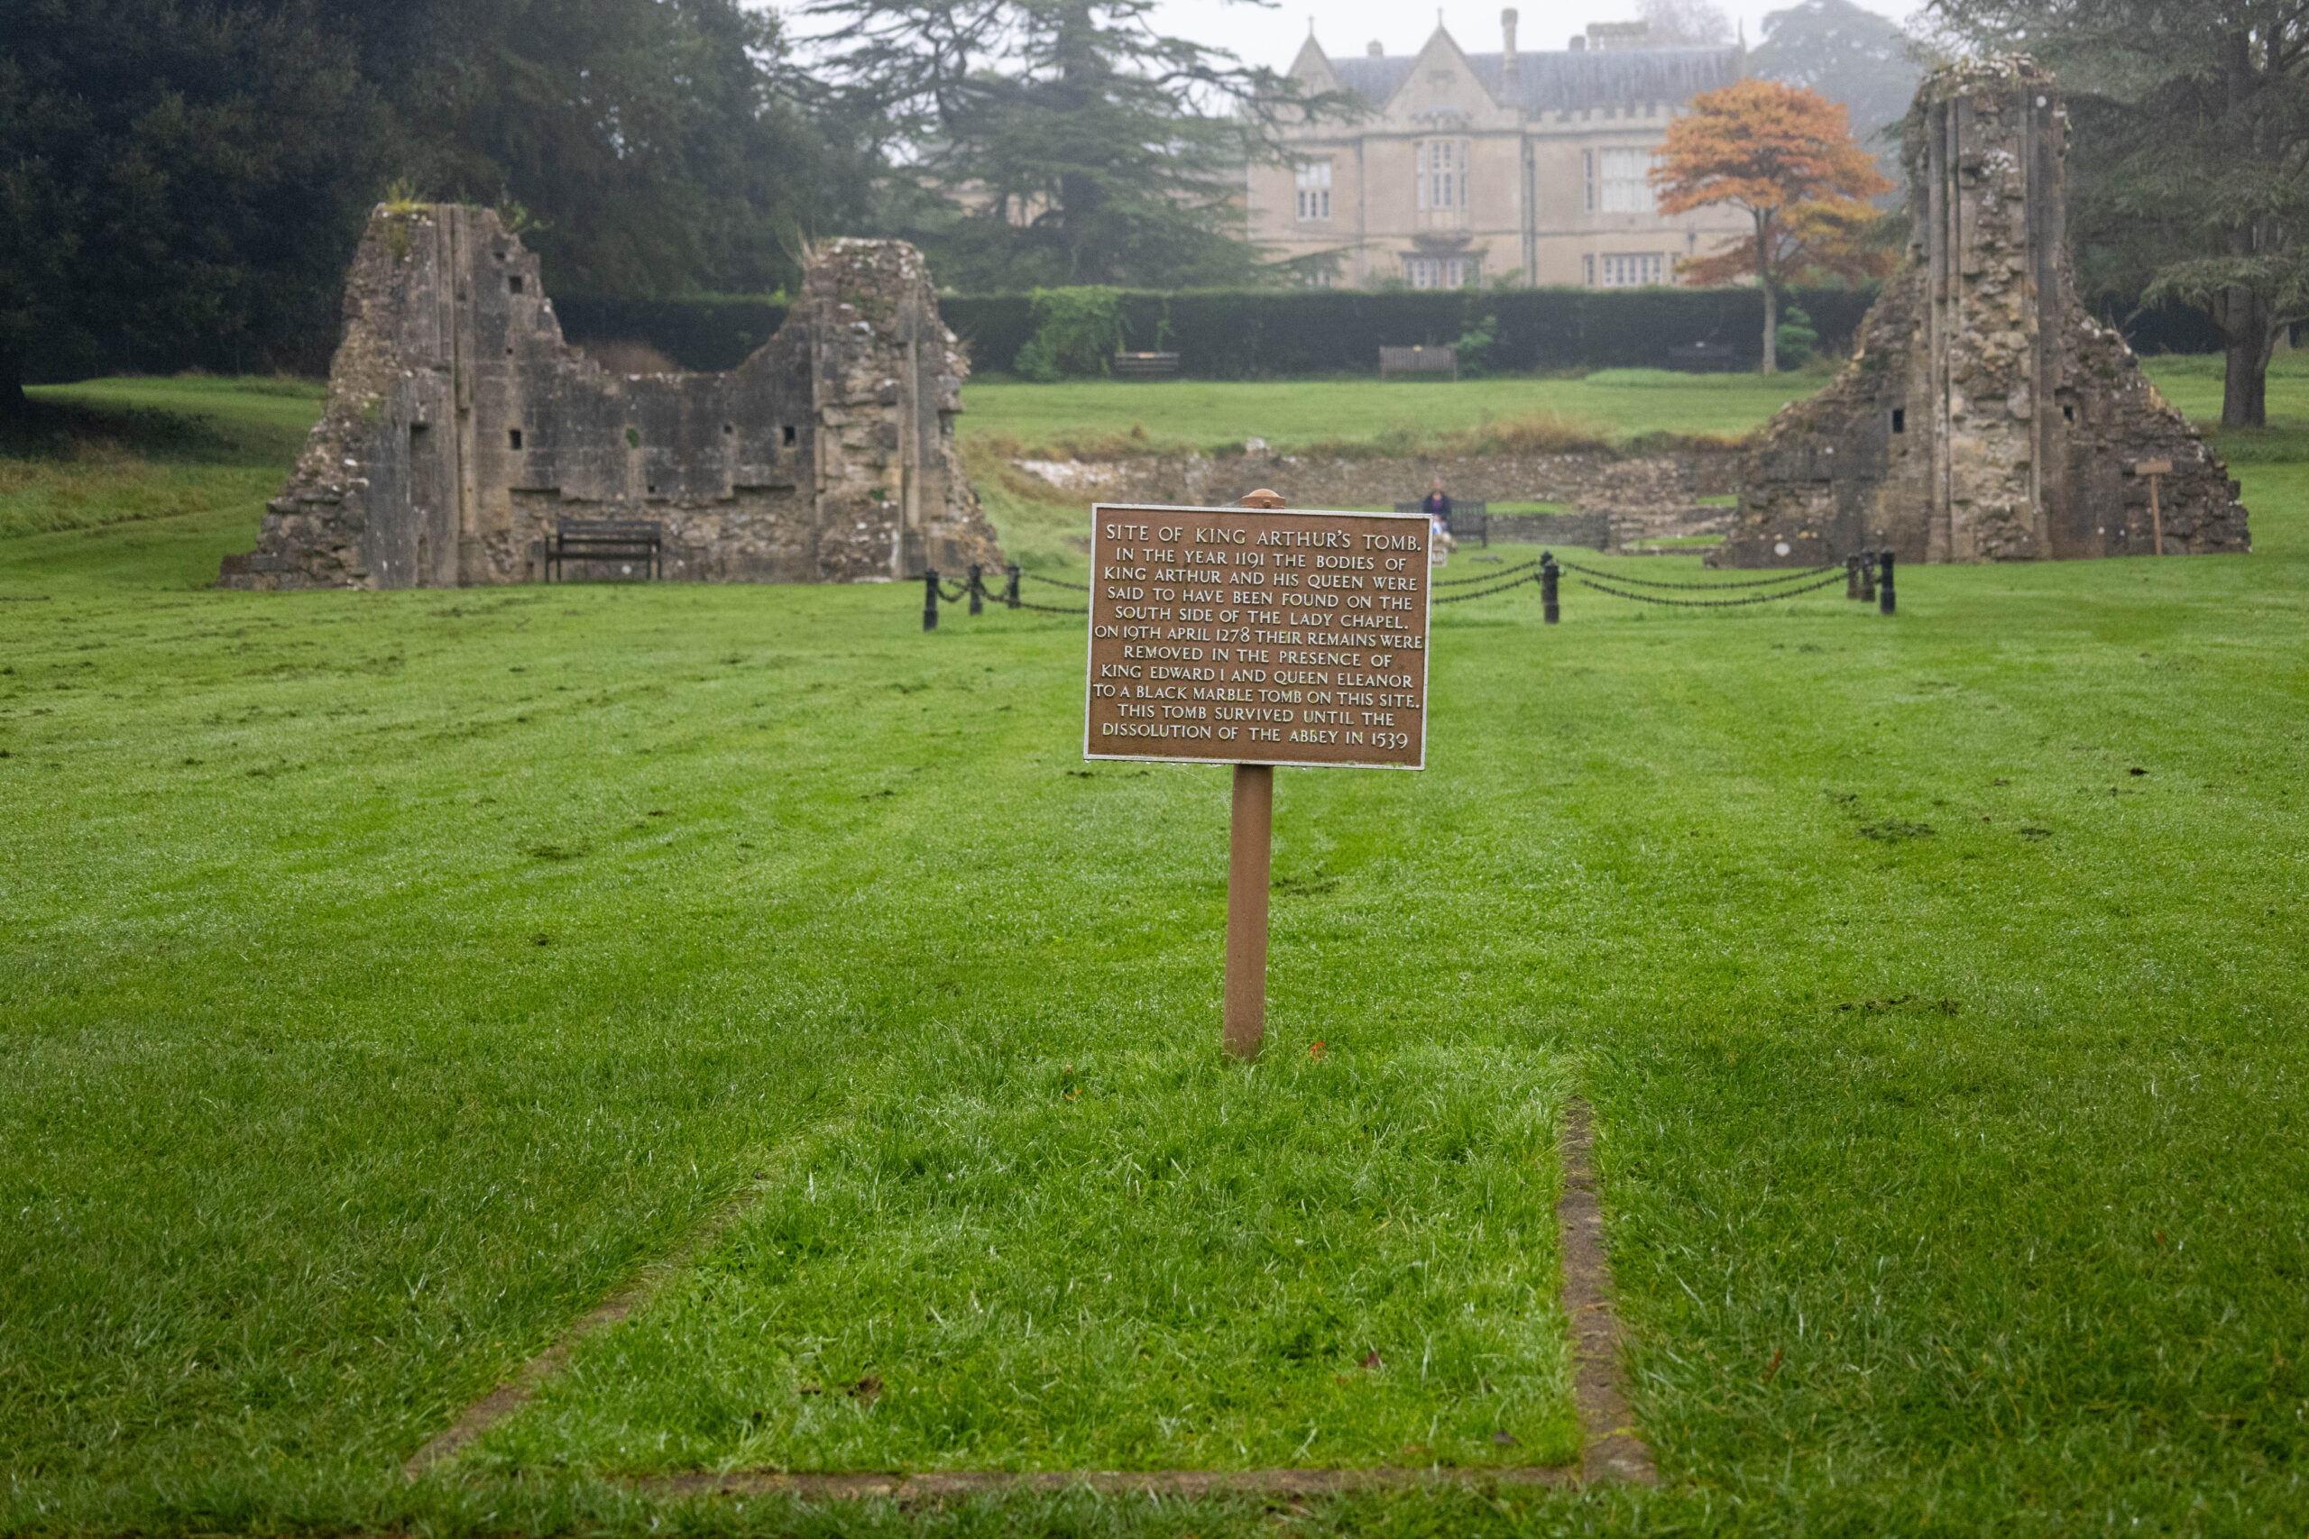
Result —
[[880, 219], [972, 288], [1263, 275], [1242, 178], [1272, 129], [1342, 111], [1164, 37], [1154, 0], [817, 0], [829, 120]]

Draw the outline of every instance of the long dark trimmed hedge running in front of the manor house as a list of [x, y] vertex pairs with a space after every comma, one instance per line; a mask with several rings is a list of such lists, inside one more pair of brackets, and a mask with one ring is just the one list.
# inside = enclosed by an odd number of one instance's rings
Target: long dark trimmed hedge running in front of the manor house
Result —
[[[1799, 288], [1819, 344], [1836, 355], [1873, 302], [1868, 291]], [[734, 369], [785, 323], [785, 305], [750, 298], [554, 302], [570, 341], [649, 341], [686, 369]], [[1007, 371], [1034, 335], [1030, 295], [937, 302], [979, 371]], [[2106, 311], [2103, 311], [2106, 314]], [[1485, 369], [1667, 367], [1674, 346], [1725, 344], [1741, 367], [1762, 351], [1764, 298], [1753, 288], [1508, 288], [1508, 291], [1191, 291], [1124, 293], [1131, 348], [1180, 355], [1189, 378], [1376, 374], [1381, 346], [1457, 341], [1492, 318]], [[2110, 314], [2122, 321], [2120, 314]], [[2143, 351], [2214, 351], [2196, 311], [2164, 307], [2127, 323]]]

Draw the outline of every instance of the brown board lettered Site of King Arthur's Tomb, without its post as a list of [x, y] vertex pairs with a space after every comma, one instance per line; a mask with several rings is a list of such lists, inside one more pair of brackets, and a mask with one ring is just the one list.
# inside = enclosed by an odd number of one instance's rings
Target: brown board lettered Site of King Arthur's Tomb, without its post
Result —
[[1099, 503], [1085, 759], [1427, 766], [1420, 512]]

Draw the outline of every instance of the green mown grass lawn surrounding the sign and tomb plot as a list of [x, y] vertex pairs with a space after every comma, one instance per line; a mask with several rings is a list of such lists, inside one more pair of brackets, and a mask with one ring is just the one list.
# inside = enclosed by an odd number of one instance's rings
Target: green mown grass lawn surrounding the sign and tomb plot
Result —
[[1432, 768], [1277, 778], [1249, 1073], [1224, 775], [1081, 761], [1076, 621], [0, 540], [0, 1527], [1210, 1539], [1277, 1514], [610, 1477], [1559, 1458], [1577, 1091], [1667, 1484], [1291, 1525], [2297, 1534], [2309, 466], [2242, 480], [2251, 558], [1891, 621], [1439, 611]]

